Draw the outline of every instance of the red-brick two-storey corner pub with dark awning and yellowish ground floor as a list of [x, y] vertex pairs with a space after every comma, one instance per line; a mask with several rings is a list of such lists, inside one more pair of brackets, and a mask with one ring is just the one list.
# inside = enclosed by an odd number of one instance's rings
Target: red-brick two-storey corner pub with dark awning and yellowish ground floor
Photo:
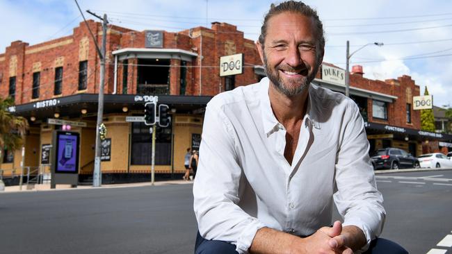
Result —
[[[100, 44], [102, 25], [92, 20], [88, 25]], [[213, 22], [211, 28], [177, 33], [108, 26], [106, 41], [104, 184], [150, 180], [152, 135], [141, 118], [150, 96], [169, 105], [172, 119], [170, 126], [156, 131], [156, 175], [179, 177], [185, 171], [186, 149], [199, 147], [203, 113], [211, 97], [266, 75], [254, 42], [232, 24]], [[241, 69], [239, 74], [220, 76], [220, 58], [236, 54], [241, 54], [234, 58], [239, 59], [234, 65]], [[24, 167], [49, 172], [46, 154], [52, 132], [63, 124], [80, 134], [79, 182], [92, 180], [99, 64], [84, 23], [72, 35], [41, 44], [12, 42], [0, 54], [0, 96], [13, 97], [15, 106], [8, 110], [30, 124], [23, 158], [21, 150], [2, 151], [0, 169], [7, 184], [17, 182], [22, 162]], [[350, 75], [350, 94], [366, 121], [371, 151], [396, 146], [420, 155], [422, 142], [452, 142], [451, 135], [419, 131], [420, 112], [411, 104], [419, 86], [409, 76], [373, 81], [356, 68]], [[344, 74], [323, 63], [314, 83], [344, 92]]]

